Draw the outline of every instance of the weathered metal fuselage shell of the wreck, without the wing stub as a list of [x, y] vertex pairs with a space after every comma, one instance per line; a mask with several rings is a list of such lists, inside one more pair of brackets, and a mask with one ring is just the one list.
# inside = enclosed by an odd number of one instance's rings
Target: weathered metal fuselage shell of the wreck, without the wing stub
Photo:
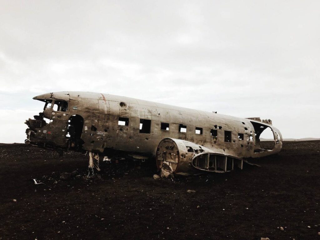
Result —
[[[240, 158], [267, 156], [279, 152], [282, 147], [282, 135], [278, 129], [246, 118], [93, 92], [53, 92], [34, 99], [52, 101], [52, 106], [56, 101], [68, 103], [64, 111], [44, 108], [44, 118], [47, 121], [50, 119], [50, 123], [43, 121], [39, 125], [41, 119], [29, 119], [29, 125], [32, 121], [38, 123], [27, 129], [26, 142], [39, 146], [44, 144], [53, 148], [69, 148], [68, 121], [76, 115], [83, 118], [83, 129], [79, 137], [81, 148], [99, 153], [112, 149], [155, 156], [159, 142], [168, 137], [187, 140]], [[127, 125], [118, 125], [119, 117], [127, 118]], [[151, 120], [150, 133], [141, 133], [141, 119]], [[161, 129], [161, 123], [169, 124], [169, 130]], [[179, 132], [180, 124], [186, 126], [186, 132]], [[274, 134], [275, 147], [271, 151], [257, 151], [260, 148], [259, 129], [268, 127]], [[196, 128], [202, 129], [201, 134], [196, 133]], [[212, 130], [216, 131], [217, 136], [212, 135]], [[225, 134], [230, 134], [228, 132], [231, 132], [231, 136], [226, 141]], [[242, 139], [239, 133], [243, 134]]]

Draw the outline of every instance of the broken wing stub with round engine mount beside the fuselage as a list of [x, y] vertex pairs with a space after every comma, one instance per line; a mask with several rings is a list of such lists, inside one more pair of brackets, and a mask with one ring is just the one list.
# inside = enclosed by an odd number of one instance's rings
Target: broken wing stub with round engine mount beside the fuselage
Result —
[[193, 142], [173, 138], [161, 140], [157, 148], [156, 160], [157, 167], [161, 170], [161, 177], [203, 172], [223, 173], [243, 167], [243, 159], [225, 155]]

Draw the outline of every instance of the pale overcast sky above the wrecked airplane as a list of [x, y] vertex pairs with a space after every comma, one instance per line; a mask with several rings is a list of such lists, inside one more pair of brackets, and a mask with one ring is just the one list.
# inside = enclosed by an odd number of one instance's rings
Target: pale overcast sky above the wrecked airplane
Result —
[[57, 91], [103, 92], [320, 137], [319, 1], [0, 0], [0, 142]]

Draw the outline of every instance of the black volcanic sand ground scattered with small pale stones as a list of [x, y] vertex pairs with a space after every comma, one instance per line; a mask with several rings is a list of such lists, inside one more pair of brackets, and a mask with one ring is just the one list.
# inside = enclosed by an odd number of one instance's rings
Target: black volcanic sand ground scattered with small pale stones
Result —
[[261, 167], [172, 181], [126, 161], [88, 178], [79, 153], [1, 144], [0, 239], [320, 239], [319, 150], [284, 142]]

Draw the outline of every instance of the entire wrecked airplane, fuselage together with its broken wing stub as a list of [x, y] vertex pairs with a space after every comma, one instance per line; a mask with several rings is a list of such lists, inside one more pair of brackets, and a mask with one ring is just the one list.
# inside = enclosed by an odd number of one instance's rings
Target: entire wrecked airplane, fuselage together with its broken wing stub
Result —
[[[156, 159], [162, 175], [228, 172], [249, 157], [278, 153], [282, 135], [270, 120], [238, 118], [93, 92], [34, 97], [44, 111], [26, 121], [26, 143], [109, 158]], [[269, 129], [273, 149], [260, 147]]]

